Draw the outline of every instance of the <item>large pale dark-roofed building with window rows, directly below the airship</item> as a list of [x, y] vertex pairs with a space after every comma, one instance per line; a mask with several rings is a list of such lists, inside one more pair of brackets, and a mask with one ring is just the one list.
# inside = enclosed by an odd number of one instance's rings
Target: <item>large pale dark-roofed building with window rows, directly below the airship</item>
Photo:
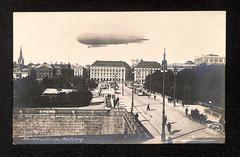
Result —
[[90, 79], [98, 81], [125, 81], [130, 66], [124, 61], [95, 61], [90, 67]]

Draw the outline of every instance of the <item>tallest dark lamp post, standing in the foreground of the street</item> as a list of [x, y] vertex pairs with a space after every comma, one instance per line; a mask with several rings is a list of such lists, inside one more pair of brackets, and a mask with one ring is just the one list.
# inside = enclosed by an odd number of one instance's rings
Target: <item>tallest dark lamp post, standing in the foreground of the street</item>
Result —
[[161, 140], [165, 141], [165, 125], [166, 125], [166, 119], [165, 119], [165, 70], [167, 70], [167, 61], [165, 59], [165, 48], [164, 48], [164, 54], [163, 54], [163, 61], [162, 61], [162, 70], [163, 70], [163, 109], [162, 109], [162, 134], [161, 134]]

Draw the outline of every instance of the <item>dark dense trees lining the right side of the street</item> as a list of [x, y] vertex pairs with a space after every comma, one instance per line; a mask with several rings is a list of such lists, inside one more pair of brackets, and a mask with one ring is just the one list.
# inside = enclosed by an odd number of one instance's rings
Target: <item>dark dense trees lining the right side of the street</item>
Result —
[[[151, 82], [151, 83], [150, 83]], [[162, 93], [162, 73], [156, 71], [146, 77], [145, 88]], [[165, 93], [173, 97], [174, 74], [165, 73]], [[192, 104], [198, 101], [225, 106], [225, 66], [202, 64], [193, 69], [184, 69], [176, 75], [176, 98]]]

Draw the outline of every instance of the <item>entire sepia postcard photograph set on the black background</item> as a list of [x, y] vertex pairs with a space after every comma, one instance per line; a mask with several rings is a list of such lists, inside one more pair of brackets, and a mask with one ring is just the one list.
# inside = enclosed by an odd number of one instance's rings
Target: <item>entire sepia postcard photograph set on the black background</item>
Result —
[[225, 65], [226, 11], [14, 12], [13, 144], [224, 144]]

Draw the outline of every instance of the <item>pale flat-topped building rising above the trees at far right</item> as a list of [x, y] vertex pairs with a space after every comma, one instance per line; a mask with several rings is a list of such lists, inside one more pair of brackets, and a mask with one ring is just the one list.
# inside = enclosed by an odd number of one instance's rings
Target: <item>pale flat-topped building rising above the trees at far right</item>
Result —
[[196, 65], [199, 64], [225, 64], [225, 58], [224, 57], [220, 57], [218, 55], [215, 54], [208, 54], [208, 55], [203, 55], [201, 57], [196, 57], [194, 60]]

